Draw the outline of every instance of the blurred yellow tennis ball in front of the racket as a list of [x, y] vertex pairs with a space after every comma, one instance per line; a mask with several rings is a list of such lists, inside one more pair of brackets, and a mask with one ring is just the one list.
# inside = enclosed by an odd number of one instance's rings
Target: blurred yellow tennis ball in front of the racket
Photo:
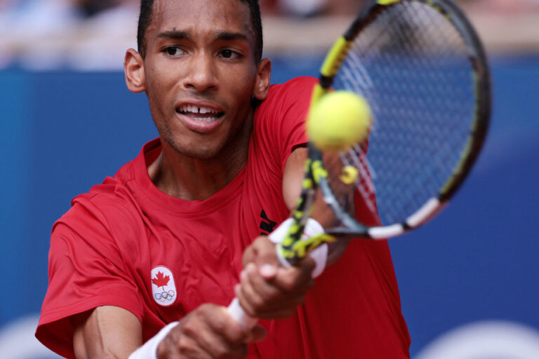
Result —
[[363, 142], [371, 128], [371, 109], [350, 91], [335, 91], [321, 97], [307, 118], [309, 140], [322, 151], [343, 151]]

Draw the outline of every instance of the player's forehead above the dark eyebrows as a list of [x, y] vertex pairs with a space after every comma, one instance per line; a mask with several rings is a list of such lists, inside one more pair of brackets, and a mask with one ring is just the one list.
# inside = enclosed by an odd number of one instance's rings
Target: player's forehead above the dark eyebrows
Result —
[[241, 32], [254, 36], [251, 13], [239, 0], [155, 0], [147, 32], [172, 29], [194, 32]]

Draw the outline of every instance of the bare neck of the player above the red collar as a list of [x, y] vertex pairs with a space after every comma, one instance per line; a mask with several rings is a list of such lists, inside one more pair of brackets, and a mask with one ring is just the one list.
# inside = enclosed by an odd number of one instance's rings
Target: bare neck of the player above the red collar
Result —
[[164, 193], [189, 201], [204, 201], [232, 182], [247, 163], [252, 121], [212, 158], [192, 158], [161, 141], [161, 154], [149, 165], [152, 182]]

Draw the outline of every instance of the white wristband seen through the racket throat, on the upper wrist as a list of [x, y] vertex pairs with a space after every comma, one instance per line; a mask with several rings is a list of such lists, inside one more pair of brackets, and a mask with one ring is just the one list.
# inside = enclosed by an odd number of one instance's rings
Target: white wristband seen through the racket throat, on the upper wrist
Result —
[[[270, 241], [272, 241], [273, 243], [281, 243], [282, 241], [284, 241], [284, 237], [286, 236], [286, 233], [288, 233], [288, 229], [292, 225], [292, 222], [293, 219], [288, 218], [286, 219], [286, 221], [279, 224], [279, 226], [268, 236], [268, 238], [270, 238]], [[322, 227], [322, 225], [319, 224], [316, 219], [309, 218], [307, 219], [307, 224], [305, 224], [305, 229], [303, 230], [301, 239], [306, 240], [307, 238], [311, 238], [312, 236], [321, 233], [324, 233], [324, 228]], [[316, 263], [314, 271], [312, 271], [312, 278], [317, 278], [317, 276], [319, 276], [326, 268], [326, 262], [328, 259], [328, 245], [326, 243], [319, 245], [319, 247], [314, 248], [314, 250], [312, 250], [309, 255], [314, 260], [314, 263]], [[281, 257], [281, 251], [277, 251], [277, 256], [279, 257], [279, 259], [281, 259], [282, 264], [288, 266], [290, 265], [286, 261], [286, 259]]]

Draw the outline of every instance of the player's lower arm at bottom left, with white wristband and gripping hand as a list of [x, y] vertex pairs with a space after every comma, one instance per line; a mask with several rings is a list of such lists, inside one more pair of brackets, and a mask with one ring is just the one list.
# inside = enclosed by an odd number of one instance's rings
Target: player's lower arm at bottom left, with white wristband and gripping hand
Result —
[[214, 304], [202, 304], [143, 345], [142, 325], [125, 309], [100, 306], [72, 323], [77, 359], [244, 358], [247, 343], [266, 334], [260, 326], [242, 330], [225, 307]]

